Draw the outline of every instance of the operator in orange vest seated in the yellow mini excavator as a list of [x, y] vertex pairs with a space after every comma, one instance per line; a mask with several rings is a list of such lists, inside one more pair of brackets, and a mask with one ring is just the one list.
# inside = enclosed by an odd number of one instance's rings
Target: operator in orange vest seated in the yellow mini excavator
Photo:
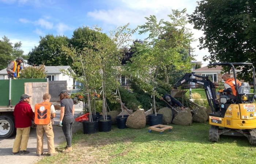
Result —
[[[223, 79], [223, 81], [225, 81], [225, 83], [224, 83], [225, 89], [221, 89], [221, 90], [219, 90], [219, 92], [226, 92], [226, 93], [228, 93], [228, 95], [231, 99], [237, 100], [235, 79], [227, 73], [222, 75], [222, 79]], [[241, 85], [242, 85], [242, 83], [237, 79], [237, 87], [239, 88]]]

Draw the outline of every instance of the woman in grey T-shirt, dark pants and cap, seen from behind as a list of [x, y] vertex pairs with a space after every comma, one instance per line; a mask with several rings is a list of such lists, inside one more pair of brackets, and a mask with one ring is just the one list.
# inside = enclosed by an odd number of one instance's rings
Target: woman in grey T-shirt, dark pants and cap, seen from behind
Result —
[[71, 152], [71, 141], [72, 141], [72, 126], [74, 124], [74, 113], [75, 105], [73, 100], [69, 97], [66, 90], [62, 90], [59, 94], [60, 97], [60, 126], [62, 127], [65, 135], [67, 146], [64, 153]]

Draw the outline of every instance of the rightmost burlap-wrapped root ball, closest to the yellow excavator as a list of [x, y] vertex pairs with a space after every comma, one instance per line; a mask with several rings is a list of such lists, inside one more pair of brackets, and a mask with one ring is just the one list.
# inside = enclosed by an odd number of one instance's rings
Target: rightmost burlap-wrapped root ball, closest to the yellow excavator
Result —
[[207, 121], [208, 119], [208, 116], [207, 116], [207, 113], [206, 113], [206, 108], [205, 107], [196, 107], [192, 110], [192, 113], [193, 113], [193, 117], [192, 117], [192, 120], [194, 122], [200, 122], [200, 123], [204, 123]]

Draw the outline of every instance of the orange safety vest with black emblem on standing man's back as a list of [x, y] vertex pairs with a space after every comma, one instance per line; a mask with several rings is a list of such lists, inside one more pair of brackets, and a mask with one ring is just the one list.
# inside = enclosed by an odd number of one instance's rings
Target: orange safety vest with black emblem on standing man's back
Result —
[[37, 125], [47, 125], [50, 123], [50, 108], [52, 103], [41, 102], [35, 104], [35, 124]]

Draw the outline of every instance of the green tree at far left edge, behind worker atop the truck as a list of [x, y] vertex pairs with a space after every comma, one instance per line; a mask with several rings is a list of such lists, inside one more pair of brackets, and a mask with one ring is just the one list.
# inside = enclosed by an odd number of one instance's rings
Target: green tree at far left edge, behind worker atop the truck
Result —
[[26, 56], [23, 55], [23, 51], [20, 49], [21, 45], [21, 42], [14, 43], [13, 45], [6, 36], [0, 39], [0, 70], [5, 69], [16, 57], [21, 56], [26, 59]]

